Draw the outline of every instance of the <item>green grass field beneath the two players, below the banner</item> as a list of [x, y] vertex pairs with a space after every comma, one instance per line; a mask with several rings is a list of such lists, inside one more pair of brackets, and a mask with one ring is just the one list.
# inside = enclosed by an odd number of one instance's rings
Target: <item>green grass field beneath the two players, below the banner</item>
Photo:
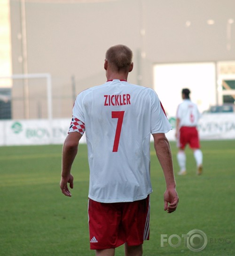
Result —
[[[164, 212], [164, 176], [151, 144], [150, 240], [144, 256], [235, 255], [235, 141], [203, 141], [204, 173], [196, 176], [187, 149], [187, 176], [177, 176], [177, 211]], [[175, 173], [176, 147], [172, 143]], [[86, 145], [79, 145], [72, 173], [72, 197], [59, 187], [62, 145], [0, 147], [0, 256], [93, 256], [87, 225], [88, 163]], [[161, 234], [180, 238], [203, 231], [206, 248], [195, 252], [164, 242]], [[179, 240], [171, 240], [176, 244]], [[116, 249], [122, 256], [123, 246]]]

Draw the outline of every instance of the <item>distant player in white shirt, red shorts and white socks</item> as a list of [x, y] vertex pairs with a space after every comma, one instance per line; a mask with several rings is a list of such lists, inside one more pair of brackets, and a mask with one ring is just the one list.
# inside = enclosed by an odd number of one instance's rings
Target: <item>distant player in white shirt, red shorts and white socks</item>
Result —
[[203, 153], [200, 149], [199, 136], [197, 131], [197, 124], [200, 118], [197, 105], [191, 102], [190, 90], [188, 88], [182, 89], [183, 102], [179, 104], [176, 113], [176, 139], [179, 151], [177, 153], [177, 160], [180, 167], [178, 175], [186, 174], [186, 155], [185, 147], [189, 144], [194, 152], [196, 160], [197, 175], [202, 174], [203, 170]]

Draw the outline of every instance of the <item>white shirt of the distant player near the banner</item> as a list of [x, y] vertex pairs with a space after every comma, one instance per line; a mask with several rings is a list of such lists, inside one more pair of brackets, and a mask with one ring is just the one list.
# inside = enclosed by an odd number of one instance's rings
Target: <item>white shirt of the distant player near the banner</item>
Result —
[[198, 120], [200, 118], [200, 113], [198, 111], [197, 105], [191, 102], [190, 99], [184, 99], [182, 103], [179, 104], [176, 118], [180, 119], [180, 127], [197, 126]]

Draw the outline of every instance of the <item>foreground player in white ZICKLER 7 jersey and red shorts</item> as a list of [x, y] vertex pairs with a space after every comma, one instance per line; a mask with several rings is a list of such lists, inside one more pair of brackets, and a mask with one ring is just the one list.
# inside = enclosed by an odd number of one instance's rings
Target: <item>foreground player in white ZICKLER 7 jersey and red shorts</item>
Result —
[[67, 183], [73, 188], [71, 166], [86, 130], [88, 223], [96, 256], [114, 256], [122, 244], [126, 256], [141, 256], [142, 243], [149, 240], [150, 134], [166, 182], [164, 210], [172, 213], [179, 200], [165, 136], [171, 126], [155, 91], [127, 82], [132, 57], [124, 45], [107, 50], [107, 81], [78, 94], [63, 145], [60, 187], [71, 196]]

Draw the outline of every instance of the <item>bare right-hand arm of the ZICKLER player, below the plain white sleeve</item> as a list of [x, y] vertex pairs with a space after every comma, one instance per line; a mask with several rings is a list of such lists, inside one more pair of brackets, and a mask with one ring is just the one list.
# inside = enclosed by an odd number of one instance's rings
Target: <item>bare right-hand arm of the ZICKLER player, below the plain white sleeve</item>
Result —
[[157, 158], [164, 172], [166, 191], [164, 193], [164, 210], [172, 213], [176, 210], [179, 197], [176, 192], [176, 183], [173, 171], [172, 153], [168, 139], [164, 133], [153, 134], [154, 148]]

